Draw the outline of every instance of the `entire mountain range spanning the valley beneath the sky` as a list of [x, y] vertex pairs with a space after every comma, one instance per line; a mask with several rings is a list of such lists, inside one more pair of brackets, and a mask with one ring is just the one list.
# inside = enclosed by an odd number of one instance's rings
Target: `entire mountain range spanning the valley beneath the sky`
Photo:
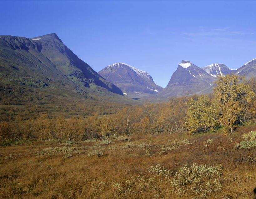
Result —
[[158, 100], [171, 96], [210, 93], [218, 75], [256, 77], [256, 59], [233, 70], [215, 63], [198, 67], [182, 60], [167, 87], [156, 85], [148, 72], [125, 63], [115, 63], [98, 73], [79, 59], [55, 34], [25, 38], [0, 36], [0, 86], [33, 88], [71, 96], [111, 96], [119, 101]]

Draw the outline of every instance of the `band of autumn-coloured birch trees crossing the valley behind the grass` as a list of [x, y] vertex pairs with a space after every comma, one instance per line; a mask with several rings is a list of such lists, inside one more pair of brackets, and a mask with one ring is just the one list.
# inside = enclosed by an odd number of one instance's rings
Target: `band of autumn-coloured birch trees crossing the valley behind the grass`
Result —
[[126, 106], [111, 115], [86, 118], [52, 118], [0, 122], [0, 140], [83, 141], [131, 134], [184, 132], [194, 134], [223, 126], [226, 133], [244, 122], [256, 122], [256, 78], [219, 76], [213, 93], [172, 98], [169, 102]]

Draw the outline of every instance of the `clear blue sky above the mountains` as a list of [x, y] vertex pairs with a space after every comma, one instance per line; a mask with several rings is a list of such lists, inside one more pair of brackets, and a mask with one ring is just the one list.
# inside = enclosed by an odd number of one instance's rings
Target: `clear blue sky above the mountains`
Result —
[[124, 62], [166, 87], [181, 60], [256, 58], [255, 1], [3, 1], [0, 35], [55, 32], [95, 71]]

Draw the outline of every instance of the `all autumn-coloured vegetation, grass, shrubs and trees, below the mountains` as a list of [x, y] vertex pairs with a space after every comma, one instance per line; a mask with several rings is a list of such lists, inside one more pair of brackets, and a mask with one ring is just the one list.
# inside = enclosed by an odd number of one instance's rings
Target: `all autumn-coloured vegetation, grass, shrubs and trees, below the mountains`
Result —
[[0, 197], [255, 197], [256, 79], [227, 75], [215, 85], [144, 105], [36, 104], [40, 95], [5, 88]]

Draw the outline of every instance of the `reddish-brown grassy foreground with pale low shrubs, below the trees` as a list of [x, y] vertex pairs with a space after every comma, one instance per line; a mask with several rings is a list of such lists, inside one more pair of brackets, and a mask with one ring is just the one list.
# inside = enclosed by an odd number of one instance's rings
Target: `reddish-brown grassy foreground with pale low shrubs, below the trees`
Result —
[[254, 198], [255, 130], [1, 147], [0, 198]]

